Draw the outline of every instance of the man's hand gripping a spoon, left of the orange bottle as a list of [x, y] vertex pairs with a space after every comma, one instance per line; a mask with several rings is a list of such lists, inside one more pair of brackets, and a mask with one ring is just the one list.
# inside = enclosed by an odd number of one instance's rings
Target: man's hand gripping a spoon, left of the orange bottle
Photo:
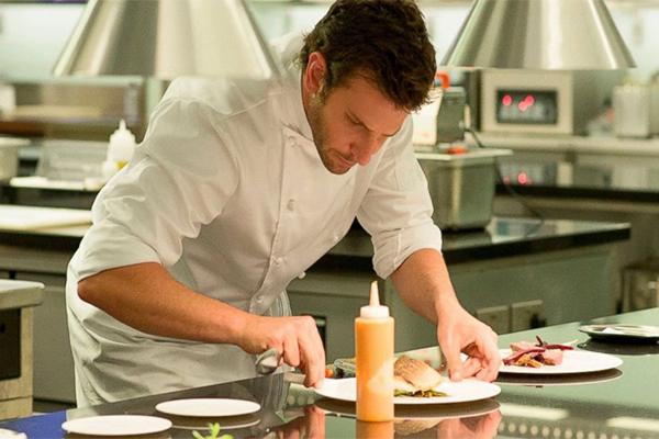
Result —
[[248, 353], [275, 348], [289, 365], [305, 375], [305, 386], [317, 386], [325, 378], [325, 349], [313, 317], [260, 317], [250, 315], [238, 346]]

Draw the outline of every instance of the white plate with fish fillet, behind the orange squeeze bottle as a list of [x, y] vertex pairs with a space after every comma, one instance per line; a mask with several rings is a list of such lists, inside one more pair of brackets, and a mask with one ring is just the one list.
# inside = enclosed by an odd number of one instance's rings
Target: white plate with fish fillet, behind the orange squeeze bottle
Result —
[[[356, 379], [325, 379], [324, 383], [323, 389], [315, 390], [319, 395], [353, 403], [357, 399]], [[396, 396], [393, 398], [393, 402], [394, 404], [404, 405], [467, 403], [470, 401], [487, 399], [499, 395], [501, 392], [498, 385], [478, 380], [462, 380], [459, 383], [445, 380], [435, 390], [444, 392], [448, 396], [433, 396], [428, 398]]]

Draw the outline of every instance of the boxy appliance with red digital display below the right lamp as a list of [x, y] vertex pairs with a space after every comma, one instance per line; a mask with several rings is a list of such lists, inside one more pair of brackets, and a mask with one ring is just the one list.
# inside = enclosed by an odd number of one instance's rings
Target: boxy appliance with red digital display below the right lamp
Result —
[[481, 131], [583, 134], [623, 76], [622, 71], [484, 70]]

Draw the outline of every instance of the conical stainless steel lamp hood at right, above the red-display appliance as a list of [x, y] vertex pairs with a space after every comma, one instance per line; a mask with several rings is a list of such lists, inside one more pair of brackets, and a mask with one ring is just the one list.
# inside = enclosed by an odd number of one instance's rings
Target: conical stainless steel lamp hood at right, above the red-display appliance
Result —
[[442, 65], [543, 70], [636, 67], [603, 0], [476, 0]]

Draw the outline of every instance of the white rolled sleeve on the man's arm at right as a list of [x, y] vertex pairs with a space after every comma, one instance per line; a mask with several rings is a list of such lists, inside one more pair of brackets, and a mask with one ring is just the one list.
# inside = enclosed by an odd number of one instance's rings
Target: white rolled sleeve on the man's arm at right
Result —
[[383, 279], [417, 250], [442, 251], [427, 181], [412, 147], [411, 117], [390, 142], [357, 213], [371, 235], [373, 268]]

